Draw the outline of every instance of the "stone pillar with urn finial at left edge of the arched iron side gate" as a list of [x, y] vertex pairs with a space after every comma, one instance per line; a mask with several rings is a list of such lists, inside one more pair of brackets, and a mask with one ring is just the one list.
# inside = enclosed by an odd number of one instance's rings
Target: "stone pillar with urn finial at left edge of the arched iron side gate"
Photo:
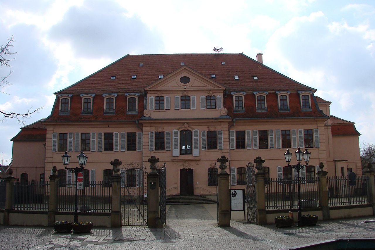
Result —
[[121, 161], [115, 159], [111, 161], [113, 166], [112, 176], [112, 211], [111, 211], [111, 227], [121, 227], [121, 175], [118, 166], [122, 164]]

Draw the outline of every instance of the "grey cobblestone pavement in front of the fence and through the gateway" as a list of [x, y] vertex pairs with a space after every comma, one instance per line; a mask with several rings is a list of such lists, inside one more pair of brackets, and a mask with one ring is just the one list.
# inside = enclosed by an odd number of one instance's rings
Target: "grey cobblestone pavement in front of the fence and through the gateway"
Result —
[[[190, 215], [182, 216], [186, 211]], [[94, 228], [89, 234], [62, 234], [49, 227], [0, 226], [0, 249], [287, 249], [350, 236], [375, 238], [375, 223], [359, 224], [368, 219], [374, 217], [320, 221], [302, 228], [232, 220], [231, 227], [219, 228], [204, 206], [171, 206], [162, 229]]]

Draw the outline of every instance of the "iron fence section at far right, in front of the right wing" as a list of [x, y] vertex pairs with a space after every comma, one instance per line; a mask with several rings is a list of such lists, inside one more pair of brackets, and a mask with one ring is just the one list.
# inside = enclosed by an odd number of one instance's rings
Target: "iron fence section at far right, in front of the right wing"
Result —
[[348, 176], [327, 177], [328, 205], [345, 206], [368, 203], [368, 176], [356, 176], [350, 180]]

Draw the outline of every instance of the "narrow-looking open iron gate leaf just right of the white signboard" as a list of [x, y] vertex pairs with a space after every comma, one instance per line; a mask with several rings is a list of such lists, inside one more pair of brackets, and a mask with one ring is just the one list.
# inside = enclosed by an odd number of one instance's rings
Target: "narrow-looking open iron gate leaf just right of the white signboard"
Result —
[[257, 199], [255, 195], [255, 170], [252, 162], [246, 165], [246, 208], [248, 222], [257, 223]]

